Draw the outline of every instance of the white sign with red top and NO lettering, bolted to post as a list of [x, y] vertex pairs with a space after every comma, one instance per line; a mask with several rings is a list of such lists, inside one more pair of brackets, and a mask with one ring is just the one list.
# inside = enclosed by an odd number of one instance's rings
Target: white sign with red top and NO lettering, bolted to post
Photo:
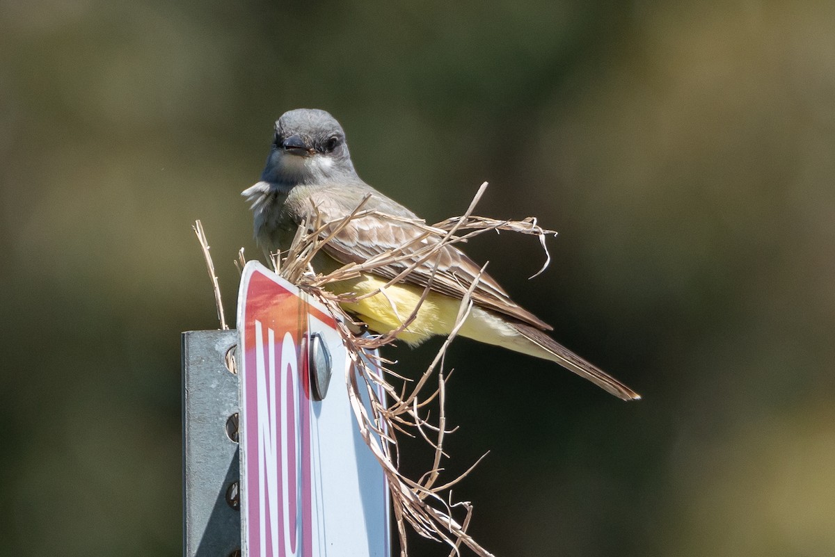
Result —
[[354, 423], [334, 317], [251, 261], [238, 331], [242, 554], [387, 557], [387, 485]]

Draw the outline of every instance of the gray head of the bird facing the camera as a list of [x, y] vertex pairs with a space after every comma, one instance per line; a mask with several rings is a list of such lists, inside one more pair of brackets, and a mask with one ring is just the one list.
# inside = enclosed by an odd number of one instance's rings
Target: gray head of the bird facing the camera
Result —
[[298, 108], [281, 115], [261, 180], [284, 186], [354, 181], [345, 132], [324, 110]]

